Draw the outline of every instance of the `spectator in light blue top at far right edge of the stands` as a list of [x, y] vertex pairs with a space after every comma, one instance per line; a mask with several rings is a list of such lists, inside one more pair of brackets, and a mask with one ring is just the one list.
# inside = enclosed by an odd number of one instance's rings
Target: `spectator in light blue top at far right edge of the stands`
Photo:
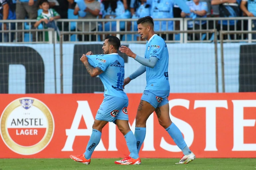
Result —
[[[256, 16], [256, 0], [242, 0], [240, 8], [246, 16]], [[256, 20], [252, 20], [252, 30], [256, 30]], [[252, 39], [256, 39], [256, 34], [252, 34]]]

